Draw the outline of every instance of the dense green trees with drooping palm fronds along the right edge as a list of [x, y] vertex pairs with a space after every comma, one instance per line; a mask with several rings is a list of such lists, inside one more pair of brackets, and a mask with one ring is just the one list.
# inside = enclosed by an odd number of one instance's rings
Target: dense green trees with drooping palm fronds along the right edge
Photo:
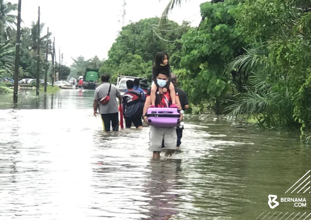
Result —
[[227, 66], [245, 73], [245, 92], [235, 96], [231, 114], [256, 117], [265, 128], [311, 126], [310, 2], [254, 0], [234, 17], [249, 43], [246, 54]]

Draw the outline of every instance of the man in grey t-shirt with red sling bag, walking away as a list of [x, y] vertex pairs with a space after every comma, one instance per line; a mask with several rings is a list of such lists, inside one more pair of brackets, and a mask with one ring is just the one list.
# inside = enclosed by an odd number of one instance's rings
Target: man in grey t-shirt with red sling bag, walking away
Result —
[[[109, 75], [102, 75], [101, 81], [103, 83], [95, 89], [95, 93], [94, 93], [94, 103], [93, 103], [94, 116], [96, 117], [97, 107], [99, 103], [99, 111], [104, 121], [105, 131], [110, 131], [110, 123], [112, 125], [112, 130], [118, 131], [119, 130], [119, 117], [118, 117], [119, 110], [118, 110], [117, 98], [119, 99], [121, 103], [122, 96], [120, 94], [120, 91], [117, 89], [117, 87], [108, 82]], [[104, 102], [103, 100], [104, 98], [105, 100], [109, 99], [109, 101], [103, 104], [102, 102]]]

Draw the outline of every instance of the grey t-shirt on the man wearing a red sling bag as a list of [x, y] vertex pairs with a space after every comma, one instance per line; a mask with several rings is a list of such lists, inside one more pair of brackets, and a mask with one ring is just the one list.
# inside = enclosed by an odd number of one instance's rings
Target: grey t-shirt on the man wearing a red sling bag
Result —
[[[98, 86], [95, 89], [94, 93], [94, 99], [98, 100], [101, 99], [102, 97], [106, 96], [109, 91], [109, 82], [104, 82], [100, 86]], [[120, 91], [117, 89], [117, 87], [114, 84], [111, 84], [111, 89], [110, 89], [110, 101], [104, 105], [102, 105], [99, 102], [99, 113], [100, 114], [111, 114], [111, 113], [116, 113], [118, 112], [118, 102], [117, 102], [117, 96], [120, 95]]]

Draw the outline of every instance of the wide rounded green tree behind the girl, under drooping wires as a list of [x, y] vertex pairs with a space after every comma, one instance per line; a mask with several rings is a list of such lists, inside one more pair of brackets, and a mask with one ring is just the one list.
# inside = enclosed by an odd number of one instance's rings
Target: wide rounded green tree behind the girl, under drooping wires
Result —
[[[190, 27], [188, 22], [178, 25], [169, 21], [159, 28], [160, 18], [142, 19], [122, 28], [116, 42], [108, 52], [100, 73], [109, 73], [116, 81], [118, 74], [151, 78], [152, 60], [157, 52], [165, 51], [170, 56], [170, 65], [179, 68], [182, 43], [181, 36]], [[164, 40], [163, 40], [164, 39]]]

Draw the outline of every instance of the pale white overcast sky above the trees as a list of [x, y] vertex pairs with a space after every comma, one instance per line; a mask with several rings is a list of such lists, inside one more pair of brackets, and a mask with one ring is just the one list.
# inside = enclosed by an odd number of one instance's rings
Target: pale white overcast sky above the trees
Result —
[[[8, 0], [9, 1], [9, 0]], [[18, 3], [18, 0], [10, 0]], [[126, 0], [125, 24], [149, 17], [160, 17], [169, 0]], [[169, 14], [169, 19], [191, 21], [197, 26], [201, 20], [200, 4], [207, 0], [183, 1], [181, 7]], [[63, 53], [63, 64], [70, 66], [71, 57], [82, 55], [90, 59], [97, 55], [100, 59], [108, 59], [108, 50], [114, 43], [118, 30], [122, 27], [123, 0], [22, 0], [21, 26], [31, 26], [31, 21], [38, 19], [40, 6], [40, 22], [45, 23], [44, 35], [52, 32], [55, 37], [55, 49], [60, 47]], [[17, 15], [17, 12], [16, 12]], [[120, 22], [118, 22], [120, 20]]]

